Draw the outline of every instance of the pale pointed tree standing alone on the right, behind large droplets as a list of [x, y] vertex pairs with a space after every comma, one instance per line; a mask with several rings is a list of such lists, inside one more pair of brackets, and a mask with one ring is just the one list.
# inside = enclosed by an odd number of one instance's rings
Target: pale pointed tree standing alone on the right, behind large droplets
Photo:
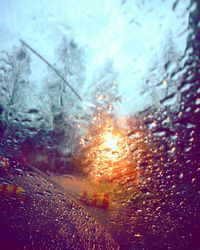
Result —
[[[178, 104], [178, 86], [182, 77], [177, 74], [180, 70], [181, 53], [179, 52], [172, 34], [169, 33], [163, 52], [151, 65], [144, 92], [151, 93], [155, 106], [167, 104], [168, 100], [176, 96], [175, 102]], [[176, 105], [171, 105], [175, 107]]]

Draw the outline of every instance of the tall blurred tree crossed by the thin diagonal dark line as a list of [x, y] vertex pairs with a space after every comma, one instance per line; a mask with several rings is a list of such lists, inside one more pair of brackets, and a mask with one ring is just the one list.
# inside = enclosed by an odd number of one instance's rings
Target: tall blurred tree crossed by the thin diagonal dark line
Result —
[[[67, 38], [63, 38], [56, 50], [57, 62], [54, 66], [78, 93], [85, 81], [83, 55], [83, 49]], [[53, 133], [58, 140], [58, 151], [70, 154], [76, 134], [75, 120], [77, 114], [81, 113], [81, 102], [54, 71], [49, 71], [45, 82], [44, 92], [50, 96]]]

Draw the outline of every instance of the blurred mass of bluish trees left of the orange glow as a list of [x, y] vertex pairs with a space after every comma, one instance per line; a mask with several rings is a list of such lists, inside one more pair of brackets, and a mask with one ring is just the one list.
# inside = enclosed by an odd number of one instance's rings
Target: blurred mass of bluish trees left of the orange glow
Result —
[[116, 73], [111, 62], [95, 73], [87, 89], [92, 105], [85, 108], [85, 102], [78, 100], [66, 84], [77, 92], [84, 86], [84, 50], [63, 38], [55, 54], [53, 67], [66, 82], [47, 66], [38, 93], [30, 80], [32, 52], [24, 44], [1, 52], [0, 147], [5, 155], [22, 158], [42, 169], [71, 171], [75, 141], [96, 109], [111, 112], [112, 104], [119, 100]]

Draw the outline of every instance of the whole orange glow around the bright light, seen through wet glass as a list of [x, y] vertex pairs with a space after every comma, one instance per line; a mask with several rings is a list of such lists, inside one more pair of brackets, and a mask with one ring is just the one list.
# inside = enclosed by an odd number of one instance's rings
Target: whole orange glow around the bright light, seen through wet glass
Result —
[[[120, 121], [120, 125], [121, 125]], [[138, 168], [132, 155], [133, 139], [114, 117], [96, 114], [88, 132], [79, 141], [76, 165], [94, 184], [137, 183]]]

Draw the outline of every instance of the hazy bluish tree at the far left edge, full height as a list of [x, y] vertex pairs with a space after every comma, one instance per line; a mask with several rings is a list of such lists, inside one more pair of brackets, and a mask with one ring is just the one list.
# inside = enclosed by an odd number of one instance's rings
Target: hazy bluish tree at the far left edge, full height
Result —
[[0, 145], [6, 152], [16, 152], [25, 137], [19, 113], [27, 95], [30, 75], [30, 57], [23, 46], [11, 52], [0, 53]]

